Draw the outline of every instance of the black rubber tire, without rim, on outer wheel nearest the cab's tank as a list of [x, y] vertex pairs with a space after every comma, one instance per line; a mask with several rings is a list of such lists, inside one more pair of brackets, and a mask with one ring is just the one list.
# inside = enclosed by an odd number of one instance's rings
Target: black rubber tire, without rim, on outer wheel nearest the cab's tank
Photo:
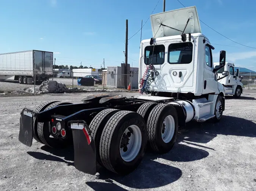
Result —
[[[162, 126], [167, 116], [173, 117], [175, 126], [172, 139], [170, 142], [165, 143], [162, 139]], [[174, 106], [168, 104], [159, 104], [155, 106], [149, 114], [147, 128], [148, 142], [151, 149], [160, 154], [169, 152], [176, 142], [178, 133], [178, 114]]]

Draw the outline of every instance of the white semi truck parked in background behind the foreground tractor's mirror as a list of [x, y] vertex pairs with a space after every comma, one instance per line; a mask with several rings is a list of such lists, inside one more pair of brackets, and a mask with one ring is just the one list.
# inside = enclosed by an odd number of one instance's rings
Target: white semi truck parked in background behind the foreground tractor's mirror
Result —
[[[219, 63], [214, 63], [214, 66], [218, 67]], [[242, 77], [239, 78], [239, 69], [234, 70], [233, 63], [226, 63], [225, 67], [217, 71], [218, 82], [220, 82], [225, 87], [225, 95], [233, 95], [234, 97], [240, 97], [243, 93]], [[222, 72], [228, 71], [228, 77], [220, 79], [223, 77]], [[220, 79], [220, 80], [219, 80]]]

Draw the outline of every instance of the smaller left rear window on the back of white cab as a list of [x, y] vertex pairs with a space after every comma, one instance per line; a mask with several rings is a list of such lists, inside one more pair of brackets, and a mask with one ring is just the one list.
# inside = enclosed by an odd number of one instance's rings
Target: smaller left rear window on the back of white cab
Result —
[[[154, 51], [154, 52], [153, 52]], [[165, 46], [155, 45], [146, 46], [144, 54], [144, 63], [146, 65], [161, 65], [165, 62]]]

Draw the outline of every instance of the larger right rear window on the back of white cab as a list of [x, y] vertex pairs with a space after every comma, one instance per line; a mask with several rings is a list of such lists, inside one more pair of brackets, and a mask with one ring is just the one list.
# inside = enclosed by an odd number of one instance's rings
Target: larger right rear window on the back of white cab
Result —
[[170, 64], [189, 64], [192, 62], [193, 44], [191, 42], [170, 44], [168, 62]]

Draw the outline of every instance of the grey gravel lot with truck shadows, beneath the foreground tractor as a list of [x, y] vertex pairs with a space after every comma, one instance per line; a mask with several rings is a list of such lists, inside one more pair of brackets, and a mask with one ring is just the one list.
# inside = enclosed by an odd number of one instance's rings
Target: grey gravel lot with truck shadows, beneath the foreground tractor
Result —
[[29, 148], [18, 141], [24, 107], [46, 100], [77, 103], [88, 94], [0, 97], [0, 190], [256, 190], [255, 91], [227, 97], [220, 123], [187, 124], [169, 153], [147, 153], [128, 176], [103, 171], [101, 179], [75, 169], [72, 148], [53, 150], [35, 141]]

